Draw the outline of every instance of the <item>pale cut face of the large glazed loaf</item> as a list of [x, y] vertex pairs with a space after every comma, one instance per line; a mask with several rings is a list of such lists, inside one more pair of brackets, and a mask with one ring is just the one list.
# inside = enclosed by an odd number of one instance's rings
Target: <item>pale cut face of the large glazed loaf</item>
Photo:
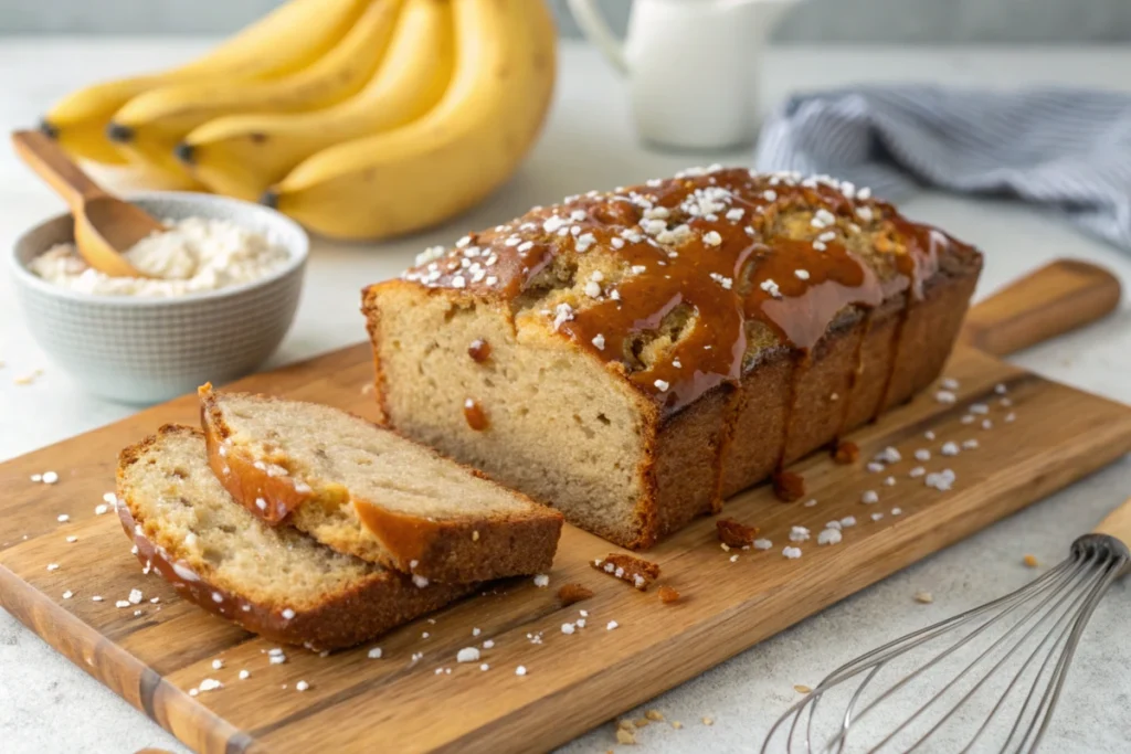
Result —
[[[655, 539], [645, 474], [655, 407], [605, 365], [508, 310], [392, 281], [368, 289], [388, 423], [619, 544]], [[477, 358], [473, 344], [487, 344]], [[485, 424], [468, 421], [472, 401]]]

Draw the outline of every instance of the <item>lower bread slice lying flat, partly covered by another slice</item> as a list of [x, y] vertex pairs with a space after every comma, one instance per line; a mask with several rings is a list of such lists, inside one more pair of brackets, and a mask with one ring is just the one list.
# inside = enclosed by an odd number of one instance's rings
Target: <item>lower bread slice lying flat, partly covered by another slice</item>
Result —
[[199, 430], [166, 425], [121, 452], [118, 514], [137, 557], [184, 599], [273, 641], [351, 647], [470, 592], [270, 527], [216, 480]]

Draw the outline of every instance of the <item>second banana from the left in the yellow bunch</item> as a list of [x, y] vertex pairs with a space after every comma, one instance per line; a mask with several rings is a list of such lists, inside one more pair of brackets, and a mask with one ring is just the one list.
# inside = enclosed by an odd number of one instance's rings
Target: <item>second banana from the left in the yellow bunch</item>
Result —
[[208, 79], [146, 92], [114, 113], [110, 138], [140, 162], [188, 176], [174, 149], [213, 118], [317, 110], [356, 93], [385, 53], [399, 6], [400, 0], [371, 0], [333, 50], [290, 76], [268, 81]]

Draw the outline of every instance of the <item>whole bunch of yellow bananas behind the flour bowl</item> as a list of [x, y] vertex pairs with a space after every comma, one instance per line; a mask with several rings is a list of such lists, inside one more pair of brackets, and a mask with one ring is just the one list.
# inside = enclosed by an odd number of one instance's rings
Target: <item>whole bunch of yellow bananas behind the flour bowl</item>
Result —
[[544, 0], [291, 0], [195, 63], [72, 95], [44, 129], [328, 236], [385, 237], [513, 173], [549, 110], [555, 43]]

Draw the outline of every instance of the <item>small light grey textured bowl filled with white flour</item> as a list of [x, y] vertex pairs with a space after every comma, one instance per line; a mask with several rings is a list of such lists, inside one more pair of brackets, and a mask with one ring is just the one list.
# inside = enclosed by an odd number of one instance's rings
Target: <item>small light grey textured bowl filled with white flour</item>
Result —
[[226, 197], [147, 192], [129, 200], [167, 227], [124, 252], [149, 277], [88, 267], [70, 215], [16, 241], [17, 297], [40, 346], [86, 390], [130, 404], [253, 372], [294, 320], [307, 233], [273, 209]]

